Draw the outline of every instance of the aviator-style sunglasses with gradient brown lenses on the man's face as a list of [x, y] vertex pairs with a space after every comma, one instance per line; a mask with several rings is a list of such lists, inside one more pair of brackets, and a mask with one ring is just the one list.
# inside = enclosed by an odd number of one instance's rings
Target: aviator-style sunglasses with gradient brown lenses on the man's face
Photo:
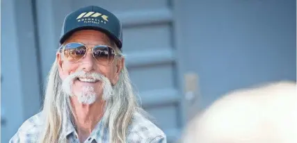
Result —
[[79, 42], [70, 42], [61, 46], [60, 52], [63, 53], [63, 56], [68, 61], [74, 63], [84, 58], [88, 53], [88, 49], [92, 50], [93, 58], [95, 58], [100, 65], [104, 66], [111, 65], [115, 56], [121, 56], [120, 53], [115, 53], [115, 50], [107, 45], [99, 44], [90, 48]]

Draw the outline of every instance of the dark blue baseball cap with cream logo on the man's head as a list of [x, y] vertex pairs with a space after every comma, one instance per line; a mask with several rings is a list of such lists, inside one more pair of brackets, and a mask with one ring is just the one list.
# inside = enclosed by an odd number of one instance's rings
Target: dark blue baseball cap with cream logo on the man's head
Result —
[[118, 17], [99, 6], [86, 6], [68, 14], [63, 23], [60, 44], [80, 30], [97, 30], [108, 35], [122, 50], [122, 24]]

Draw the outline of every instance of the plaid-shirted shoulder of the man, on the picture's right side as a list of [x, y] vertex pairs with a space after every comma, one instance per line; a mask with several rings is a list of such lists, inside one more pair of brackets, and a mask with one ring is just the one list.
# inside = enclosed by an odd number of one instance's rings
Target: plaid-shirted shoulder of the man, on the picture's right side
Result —
[[161, 128], [139, 113], [134, 114], [131, 120], [127, 138], [132, 142], [166, 142]]

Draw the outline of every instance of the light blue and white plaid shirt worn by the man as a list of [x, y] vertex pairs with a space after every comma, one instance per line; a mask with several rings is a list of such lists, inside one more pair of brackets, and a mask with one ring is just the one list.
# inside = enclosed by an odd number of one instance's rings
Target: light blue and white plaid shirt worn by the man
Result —
[[[42, 130], [41, 112], [33, 117], [27, 119], [24, 124], [19, 128], [17, 133], [10, 139], [10, 143], [35, 143], [38, 142], [40, 131]], [[90, 136], [85, 143], [104, 143], [109, 142], [109, 132], [107, 128], [103, 128], [102, 121], [95, 126]], [[72, 125], [70, 119], [65, 128], [65, 138], [68, 142], [79, 142], [77, 132]], [[128, 127], [127, 133], [128, 143], [166, 143], [166, 135], [154, 125], [151, 121], [145, 119], [141, 115], [135, 114], [132, 118], [131, 124]]]

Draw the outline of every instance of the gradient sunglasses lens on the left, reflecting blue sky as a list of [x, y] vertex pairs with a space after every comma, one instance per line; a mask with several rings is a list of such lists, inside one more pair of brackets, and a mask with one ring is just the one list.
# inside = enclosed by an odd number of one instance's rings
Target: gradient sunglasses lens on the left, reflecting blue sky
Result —
[[65, 45], [63, 51], [67, 60], [70, 62], [77, 62], [86, 55], [87, 49], [80, 43], [68, 43]]

